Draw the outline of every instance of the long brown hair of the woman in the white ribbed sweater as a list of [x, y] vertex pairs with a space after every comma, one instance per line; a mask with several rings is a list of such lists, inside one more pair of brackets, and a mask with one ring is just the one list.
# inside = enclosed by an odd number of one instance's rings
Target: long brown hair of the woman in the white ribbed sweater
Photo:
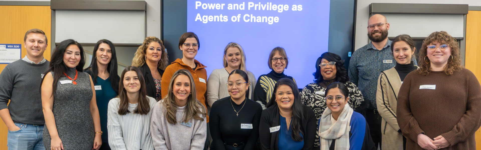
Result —
[[118, 113], [120, 115], [130, 113], [130, 111], [128, 111], [127, 90], [124, 88], [124, 77], [125, 73], [128, 71], [135, 71], [140, 81], [139, 105], [137, 105], [134, 113], [147, 114], [150, 111], [150, 100], [147, 98], [144, 76], [142, 75], [142, 72], [140, 72], [140, 69], [135, 66], [127, 66], [124, 71], [122, 71], [122, 75], [120, 76], [122, 81], [119, 82], [119, 95], [117, 96], [117, 98], [120, 99]]

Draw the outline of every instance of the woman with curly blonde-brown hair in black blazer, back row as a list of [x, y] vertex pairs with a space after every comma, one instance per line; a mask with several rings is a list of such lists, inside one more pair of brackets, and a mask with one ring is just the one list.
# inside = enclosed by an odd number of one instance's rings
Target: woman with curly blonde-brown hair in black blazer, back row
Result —
[[135, 52], [132, 66], [139, 67], [145, 79], [147, 96], [159, 101], [161, 95], [161, 79], [169, 58], [162, 40], [156, 37], [147, 37]]

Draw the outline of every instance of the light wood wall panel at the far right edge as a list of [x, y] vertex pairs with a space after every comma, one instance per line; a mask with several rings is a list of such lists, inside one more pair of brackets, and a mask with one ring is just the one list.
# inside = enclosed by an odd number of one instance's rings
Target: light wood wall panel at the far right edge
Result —
[[[481, 82], [481, 11], [469, 11], [466, 16], [465, 67]], [[476, 150], [481, 150], [481, 129], [476, 131]]]

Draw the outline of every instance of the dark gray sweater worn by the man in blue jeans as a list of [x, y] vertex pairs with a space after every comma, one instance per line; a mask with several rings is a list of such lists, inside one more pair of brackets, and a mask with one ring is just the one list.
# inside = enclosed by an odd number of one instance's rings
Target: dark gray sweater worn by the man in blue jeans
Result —
[[41, 74], [49, 64], [49, 61], [32, 64], [18, 60], [5, 66], [1, 72], [0, 110], [8, 109], [14, 123], [45, 125], [40, 82]]

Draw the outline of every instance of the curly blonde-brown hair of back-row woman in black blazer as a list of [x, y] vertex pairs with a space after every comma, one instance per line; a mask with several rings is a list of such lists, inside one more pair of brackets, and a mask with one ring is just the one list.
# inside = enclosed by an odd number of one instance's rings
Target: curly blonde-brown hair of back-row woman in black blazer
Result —
[[165, 50], [164, 42], [162, 42], [162, 40], [156, 37], [147, 37], [144, 39], [144, 42], [142, 43], [142, 45], [139, 46], [139, 48], [135, 52], [134, 59], [132, 59], [132, 66], [140, 67], [144, 65], [146, 50], [149, 47], [149, 44], [152, 42], [159, 43], [160, 47], [162, 48], [162, 56], [159, 63], [157, 64], [157, 67], [162, 70], [165, 70], [165, 68], [169, 63], [169, 57], [167, 56], [167, 51]]

